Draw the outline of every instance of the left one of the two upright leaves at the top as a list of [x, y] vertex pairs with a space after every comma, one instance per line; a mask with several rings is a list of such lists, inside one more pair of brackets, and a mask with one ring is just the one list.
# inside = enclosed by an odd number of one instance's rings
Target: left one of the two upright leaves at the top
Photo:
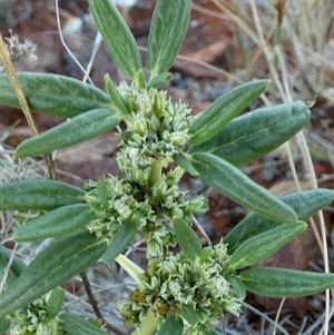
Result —
[[136, 40], [112, 0], [89, 0], [89, 8], [104, 41], [119, 67], [129, 78], [141, 68]]

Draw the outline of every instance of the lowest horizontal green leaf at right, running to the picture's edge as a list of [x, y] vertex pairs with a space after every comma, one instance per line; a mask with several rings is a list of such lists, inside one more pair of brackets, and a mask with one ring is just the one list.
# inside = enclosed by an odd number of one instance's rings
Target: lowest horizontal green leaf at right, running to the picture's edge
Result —
[[256, 267], [239, 276], [246, 289], [268, 297], [297, 297], [334, 287], [334, 274]]

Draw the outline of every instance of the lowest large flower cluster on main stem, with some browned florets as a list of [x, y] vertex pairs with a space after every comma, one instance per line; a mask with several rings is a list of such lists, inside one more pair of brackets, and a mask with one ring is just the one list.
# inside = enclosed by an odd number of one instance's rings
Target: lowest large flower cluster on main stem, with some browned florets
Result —
[[[141, 323], [153, 311], [159, 316], [160, 324], [168, 316], [181, 316], [188, 324], [187, 335], [190, 335], [208, 331], [223, 311], [239, 315], [242, 299], [235, 296], [226, 280], [228, 263], [223, 240], [214, 248], [204, 248], [195, 262], [186, 258], [183, 252], [149, 260], [139, 286], [129, 295], [129, 302], [120, 305], [126, 324]], [[189, 313], [189, 309], [197, 318], [191, 325], [184, 313]]]

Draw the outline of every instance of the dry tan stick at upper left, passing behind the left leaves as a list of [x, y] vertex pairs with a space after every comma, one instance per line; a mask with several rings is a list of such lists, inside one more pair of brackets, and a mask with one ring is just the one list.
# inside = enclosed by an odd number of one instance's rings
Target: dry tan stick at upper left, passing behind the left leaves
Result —
[[[3, 62], [3, 66], [7, 70], [7, 73], [9, 76], [9, 79], [11, 81], [11, 85], [13, 87], [13, 90], [17, 95], [17, 98], [19, 100], [19, 104], [22, 108], [22, 111], [24, 114], [24, 117], [28, 121], [28, 125], [30, 126], [32, 132], [35, 135], [38, 135], [39, 134], [39, 130], [38, 130], [38, 127], [35, 122], [35, 119], [30, 112], [30, 108], [29, 108], [29, 105], [27, 102], [27, 99], [23, 95], [23, 91], [22, 91], [22, 88], [20, 86], [20, 82], [19, 82], [19, 79], [18, 79], [18, 76], [14, 71], [14, 68], [13, 68], [13, 65], [11, 62], [11, 59], [10, 59], [10, 56], [8, 53], [8, 50], [4, 46], [4, 42], [3, 42], [3, 39], [2, 39], [2, 35], [0, 33], [0, 56], [1, 56], [1, 59], [2, 59], [2, 62]], [[46, 159], [46, 162], [47, 162], [47, 166], [48, 166], [48, 170], [49, 170], [49, 176], [51, 179], [56, 180], [57, 179], [57, 175], [56, 175], [56, 169], [55, 169], [55, 165], [53, 165], [53, 160], [51, 158], [51, 155], [50, 154], [46, 154], [43, 155], [45, 156], [45, 159]]]

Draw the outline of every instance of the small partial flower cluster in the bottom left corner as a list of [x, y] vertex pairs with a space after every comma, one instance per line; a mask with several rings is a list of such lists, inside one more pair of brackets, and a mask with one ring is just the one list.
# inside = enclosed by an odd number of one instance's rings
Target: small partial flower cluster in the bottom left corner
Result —
[[47, 312], [51, 292], [36, 299], [23, 309], [18, 309], [9, 315], [9, 319], [16, 323], [10, 335], [55, 335], [58, 334], [58, 317], [50, 318]]

